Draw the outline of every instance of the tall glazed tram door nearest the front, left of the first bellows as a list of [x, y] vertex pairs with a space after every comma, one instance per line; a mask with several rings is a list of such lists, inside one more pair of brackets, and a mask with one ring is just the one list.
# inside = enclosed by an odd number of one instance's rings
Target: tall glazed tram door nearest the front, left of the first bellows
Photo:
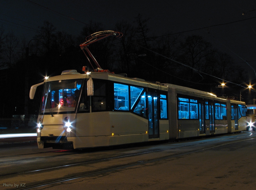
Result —
[[148, 138], [159, 137], [157, 94], [148, 93]]

